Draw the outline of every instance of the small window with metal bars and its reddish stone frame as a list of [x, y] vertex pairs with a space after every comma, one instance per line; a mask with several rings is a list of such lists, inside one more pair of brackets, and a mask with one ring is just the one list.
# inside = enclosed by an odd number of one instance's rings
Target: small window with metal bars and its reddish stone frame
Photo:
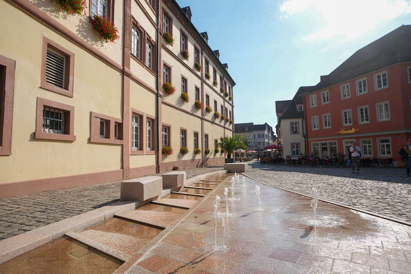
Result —
[[74, 141], [74, 107], [37, 98], [36, 139]]

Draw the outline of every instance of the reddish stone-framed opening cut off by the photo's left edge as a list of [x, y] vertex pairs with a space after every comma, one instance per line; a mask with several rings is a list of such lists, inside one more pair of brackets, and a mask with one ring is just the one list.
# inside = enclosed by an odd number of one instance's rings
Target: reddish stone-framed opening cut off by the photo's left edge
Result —
[[0, 155], [11, 154], [14, 77], [15, 61], [0, 55]]

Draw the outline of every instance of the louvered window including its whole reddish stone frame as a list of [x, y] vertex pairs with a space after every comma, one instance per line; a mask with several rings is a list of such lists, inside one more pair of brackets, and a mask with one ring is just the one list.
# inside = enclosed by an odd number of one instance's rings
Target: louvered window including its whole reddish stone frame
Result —
[[40, 86], [73, 97], [74, 54], [43, 37]]

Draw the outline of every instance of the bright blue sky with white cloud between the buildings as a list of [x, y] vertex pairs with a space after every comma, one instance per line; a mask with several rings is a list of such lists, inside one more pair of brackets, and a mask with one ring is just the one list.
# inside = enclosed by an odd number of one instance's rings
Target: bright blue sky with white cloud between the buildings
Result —
[[277, 124], [275, 101], [411, 24], [411, 0], [177, 0], [235, 81], [234, 122]]

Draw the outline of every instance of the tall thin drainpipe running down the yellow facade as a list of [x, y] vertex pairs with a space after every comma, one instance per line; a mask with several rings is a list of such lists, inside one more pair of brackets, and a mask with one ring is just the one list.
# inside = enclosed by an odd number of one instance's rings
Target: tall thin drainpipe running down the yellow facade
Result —
[[159, 115], [159, 94], [160, 94], [160, 90], [159, 90], [159, 72], [160, 72], [160, 50], [161, 50], [161, 45], [160, 45], [160, 0], [157, 0], [157, 19], [156, 19], [156, 24], [157, 24], [157, 30], [156, 30], [156, 42], [157, 42], [157, 74], [156, 74], [156, 90], [157, 90], [157, 95], [156, 95], [156, 148], [157, 148], [157, 152], [156, 152], [156, 172], [160, 173], [160, 115]]

